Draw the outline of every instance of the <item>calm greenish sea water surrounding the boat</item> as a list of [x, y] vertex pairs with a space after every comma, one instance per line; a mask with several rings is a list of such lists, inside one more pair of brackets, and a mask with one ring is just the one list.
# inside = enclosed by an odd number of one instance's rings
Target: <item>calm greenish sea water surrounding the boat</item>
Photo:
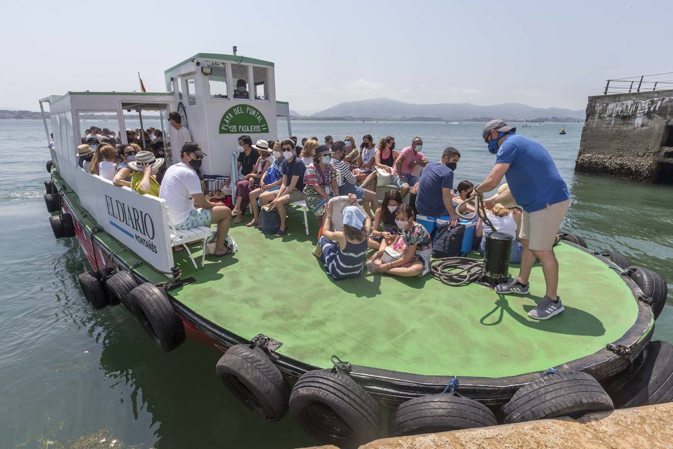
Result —
[[[657, 271], [673, 290], [673, 186], [573, 173], [582, 125], [567, 123], [567, 135], [559, 135], [561, 125], [519, 132], [552, 153], [569, 184], [573, 203], [564, 228], [590, 248], [616, 250]], [[377, 141], [392, 135], [398, 149], [419, 135], [431, 160], [453, 146], [462, 153], [457, 180], [480, 182], [493, 166], [476, 123], [292, 126], [299, 139], [353, 135], [359, 143], [365, 133]], [[279, 122], [279, 136], [285, 133]], [[0, 448], [316, 444], [291, 417], [267, 423], [234, 401], [215, 376], [217, 351], [187, 341], [162, 353], [123, 308], [90, 310], [77, 284], [88, 269], [83, 254], [74, 239], [55, 240], [48, 225], [42, 199], [48, 159], [40, 120], [0, 120]], [[673, 301], [654, 338], [673, 341]]]

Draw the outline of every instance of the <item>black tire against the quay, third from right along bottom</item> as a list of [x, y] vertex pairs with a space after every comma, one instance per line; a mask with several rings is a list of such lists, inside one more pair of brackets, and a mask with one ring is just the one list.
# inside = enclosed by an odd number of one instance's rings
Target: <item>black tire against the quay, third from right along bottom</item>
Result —
[[451, 393], [430, 394], [405, 401], [390, 415], [390, 436], [431, 434], [497, 425], [485, 405]]

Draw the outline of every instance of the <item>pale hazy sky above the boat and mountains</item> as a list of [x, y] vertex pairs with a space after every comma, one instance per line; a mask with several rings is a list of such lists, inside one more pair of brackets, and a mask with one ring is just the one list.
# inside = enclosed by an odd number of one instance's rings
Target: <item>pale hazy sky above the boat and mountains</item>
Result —
[[673, 71], [673, 1], [11, 1], [0, 106], [68, 90], [164, 91], [196, 53], [273, 61], [303, 114], [388, 97], [583, 109], [605, 79]]

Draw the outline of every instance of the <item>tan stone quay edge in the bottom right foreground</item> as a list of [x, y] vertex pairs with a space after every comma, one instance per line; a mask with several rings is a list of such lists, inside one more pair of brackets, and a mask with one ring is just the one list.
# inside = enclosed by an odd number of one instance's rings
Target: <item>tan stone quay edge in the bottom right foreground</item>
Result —
[[[321, 446], [334, 448], [336, 446]], [[384, 438], [361, 449], [430, 448], [671, 448], [673, 403], [494, 425], [438, 434]]]

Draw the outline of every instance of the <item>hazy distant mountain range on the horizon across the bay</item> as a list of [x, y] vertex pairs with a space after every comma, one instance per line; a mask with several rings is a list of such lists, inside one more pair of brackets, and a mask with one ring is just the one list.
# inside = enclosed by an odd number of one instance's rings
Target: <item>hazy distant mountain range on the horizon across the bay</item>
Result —
[[[291, 111], [291, 114], [294, 111]], [[357, 102], [345, 102], [321, 110], [313, 118], [345, 118], [360, 120], [538, 120], [543, 118], [564, 118], [584, 120], [584, 110], [564, 108], [534, 108], [520, 103], [494, 104], [479, 106], [470, 103], [413, 104], [390, 100], [390, 98], [372, 98]], [[570, 120], [569, 120], [570, 121]]]

